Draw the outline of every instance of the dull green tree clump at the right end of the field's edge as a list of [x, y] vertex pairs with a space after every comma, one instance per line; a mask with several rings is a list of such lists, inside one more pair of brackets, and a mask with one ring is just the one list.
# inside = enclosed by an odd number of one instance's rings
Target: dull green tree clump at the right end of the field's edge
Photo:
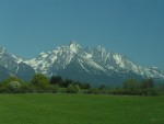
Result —
[[109, 91], [110, 94], [130, 94], [130, 95], [159, 95], [162, 90], [157, 88], [151, 78], [137, 80], [128, 79], [122, 83], [122, 88], [115, 88]]

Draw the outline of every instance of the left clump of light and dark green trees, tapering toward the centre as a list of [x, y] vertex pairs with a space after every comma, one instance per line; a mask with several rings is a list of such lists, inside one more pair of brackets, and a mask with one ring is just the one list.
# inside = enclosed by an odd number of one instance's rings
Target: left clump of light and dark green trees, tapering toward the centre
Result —
[[68, 92], [78, 93], [80, 89], [90, 89], [90, 83], [63, 79], [52, 76], [50, 79], [43, 74], [36, 74], [30, 82], [9, 77], [0, 82], [0, 93], [44, 93]]

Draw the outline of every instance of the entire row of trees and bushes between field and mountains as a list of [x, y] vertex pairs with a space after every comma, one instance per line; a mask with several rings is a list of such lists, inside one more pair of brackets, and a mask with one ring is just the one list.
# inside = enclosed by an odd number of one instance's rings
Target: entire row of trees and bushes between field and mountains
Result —
[[0, 93], [93, 93], [93, 94], [128, 94], [128, 95], [159, 95], [164, 94], [164, 83], [154, 82], [153, 79], [127, 79], [120, 88], [109, 88], [105, 84], [98, 88], [90, 83], [71, 79], [63, 79], [60, 76], [52, 76], [50, 79], [43, 74], [36, 74], [30, 82], [16, 77], [10, 77], [0, 82]]

